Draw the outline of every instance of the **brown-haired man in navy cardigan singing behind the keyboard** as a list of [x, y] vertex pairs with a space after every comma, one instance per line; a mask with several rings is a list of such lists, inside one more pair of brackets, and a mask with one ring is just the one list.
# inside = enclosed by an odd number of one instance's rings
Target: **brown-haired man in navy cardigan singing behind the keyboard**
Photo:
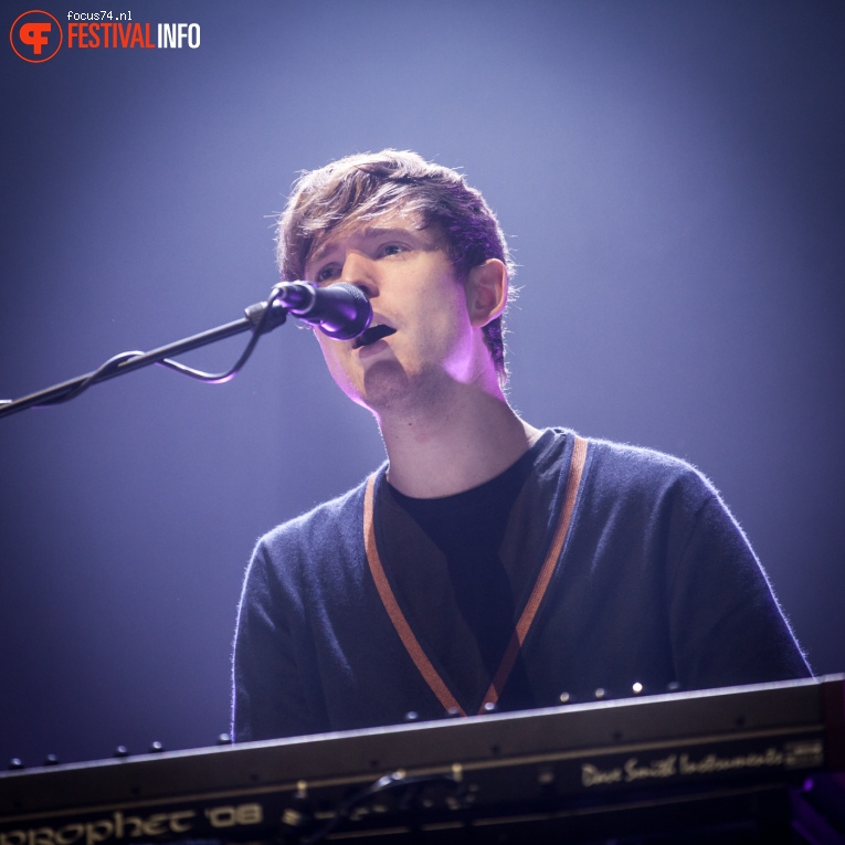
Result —
[[513, 267], [460, 173], [395, 150], [306, 173], [278, 258], [369, 298], [362, 336], [317, 338], [388, 462], [258, 542], [235, 740], [810, 674], [706, 478], [508, 405]]

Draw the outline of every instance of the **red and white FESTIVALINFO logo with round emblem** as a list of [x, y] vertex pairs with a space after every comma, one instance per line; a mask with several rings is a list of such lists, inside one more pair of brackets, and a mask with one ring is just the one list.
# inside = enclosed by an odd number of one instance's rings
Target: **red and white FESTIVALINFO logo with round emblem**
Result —
[[24, 62], [40, 64], [66, 50], [181, 50], [200, 46], [199, 23], [149, 23], [133, 20], [130, 10], [76, 12], [66, 21], [41, 9], [18, 15], [9, 30], [12, 50]]

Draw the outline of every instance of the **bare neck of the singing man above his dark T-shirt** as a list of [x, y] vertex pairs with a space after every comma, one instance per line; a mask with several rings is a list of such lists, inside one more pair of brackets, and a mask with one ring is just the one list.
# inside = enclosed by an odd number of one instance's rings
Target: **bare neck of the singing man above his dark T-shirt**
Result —
[[380, 425], [389, 480], [415, 498], [452, 496], [495, 478], [540, 435], [499, 391], [471, 387], [447, 405], [382, 416]]

